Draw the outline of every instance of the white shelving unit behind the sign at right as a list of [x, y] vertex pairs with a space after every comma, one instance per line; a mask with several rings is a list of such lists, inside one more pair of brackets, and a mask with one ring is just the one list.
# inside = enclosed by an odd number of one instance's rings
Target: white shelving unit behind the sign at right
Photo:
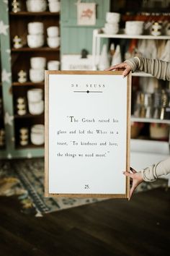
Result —
[[[153, 40], [170, 40], [168, 35], [125, 35], [123, 33], [116, 35], [107, 35], [102, 33], [102, 30], [94, 30], [93, 33], [93, 60], [94, 67], [97, 69], [99, 63], [99, 55], [101, 50], [101, 40], [102, 38], [119, 38], [119, 39], [153, 39]], [[144, 72], [135, 72], [132, 74], [133, 77], [152, 77], [151, 74], [146, 74]], [[140, 123], [155, 123], [155, 124], [169, 124], [170, 120], [161, 119], [147, 119], [147, 118], [137, 118], [131, 116], [132, 122]], [[163, 160], [169, 157], [169, 141], [160, 140], [140, 140], [131, 139], [131, 166], [133, 168], [141, 169], [145, 166], [149, 166], [153, 163]], [[170, 176], [169, 176], [169, 186], [170, 186]]]

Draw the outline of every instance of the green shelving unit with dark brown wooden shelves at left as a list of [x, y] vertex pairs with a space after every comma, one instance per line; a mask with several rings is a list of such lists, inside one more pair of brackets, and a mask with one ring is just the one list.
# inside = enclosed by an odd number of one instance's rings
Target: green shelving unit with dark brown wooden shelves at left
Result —
[[[1, 34], [1, 66], [4, 69], [2, 88], [4, 103], [4, 117], [6, 130], [6, 148], [0, 151], [0, 158], [36, 157], [44, 155], [44, 145], [33, 145], [30, 141], [27, 145], [19, 145], [19, 129], [30, 127], [34, 124], [44, 124], [44, 114], [32, 115], [28, 112], [20, 116], [15, 111], [16, 99], [24, 97], [27, 99], [27, 90], [32, 88], [44, 89], [44, 82], [31, 82], [29, 79], [30, 58], [42, 56], [50, 60], [60, 61], [61, 49], [47, 46], [47, 28], [50, 26], [60, 27], [59, 12], [27, 12], [25, 1], [21, 2], [21, 12], [11, 12], [12, 0], [0, 3], [1, 20], [6, 26], [6, 31]], [[6, 9], [9, 8], [9, 12]], [[44, 46], [30, 48], [27, 46], [27, 24], [29, 22], [43, 22]], [[18, 35], [22, 38], [22, 48], [14, 48], [13, 38]], [[18, 82], [18, 72], [27, 72], [27, 82]], [[1, 116], [0, 116], [1, 119]]]

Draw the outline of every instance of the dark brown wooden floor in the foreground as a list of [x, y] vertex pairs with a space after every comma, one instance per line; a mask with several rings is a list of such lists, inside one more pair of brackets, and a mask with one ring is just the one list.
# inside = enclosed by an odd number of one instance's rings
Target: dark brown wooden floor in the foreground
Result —
[[170, 190], [140, 192], [35, 218], [0, 197], [1, 256], [170, 255]]

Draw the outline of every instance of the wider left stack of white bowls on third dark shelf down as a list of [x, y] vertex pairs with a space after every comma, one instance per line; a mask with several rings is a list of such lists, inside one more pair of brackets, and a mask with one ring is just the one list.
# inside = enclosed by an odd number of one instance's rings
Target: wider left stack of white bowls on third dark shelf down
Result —
[[32, 57], [30, 59], [30, 80], [31, 82], [43, 82], [45, 74], [46, 59], [44, 57]]

